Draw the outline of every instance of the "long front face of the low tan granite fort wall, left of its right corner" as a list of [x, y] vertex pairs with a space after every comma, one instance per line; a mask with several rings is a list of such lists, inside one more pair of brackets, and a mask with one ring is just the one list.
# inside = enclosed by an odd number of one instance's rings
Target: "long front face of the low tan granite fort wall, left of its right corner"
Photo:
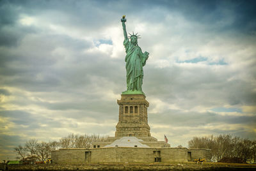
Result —
[[60, 149], [52, 151], [52, 163], [147, 163], [147, 162], [187, 162], [186, 148], [134, 148], [108, 147], [97, 149]]

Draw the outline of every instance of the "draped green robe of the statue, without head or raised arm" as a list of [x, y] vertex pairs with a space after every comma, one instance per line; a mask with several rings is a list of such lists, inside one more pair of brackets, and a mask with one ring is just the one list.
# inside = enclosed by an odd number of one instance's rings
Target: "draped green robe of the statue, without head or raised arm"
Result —
[[138, 45], [132, 45], [128, 39], [124, 40], [124, 47], [127, 91], [142, 92], [143, 66], [146, 64], [147, 56], [141, 52]]

